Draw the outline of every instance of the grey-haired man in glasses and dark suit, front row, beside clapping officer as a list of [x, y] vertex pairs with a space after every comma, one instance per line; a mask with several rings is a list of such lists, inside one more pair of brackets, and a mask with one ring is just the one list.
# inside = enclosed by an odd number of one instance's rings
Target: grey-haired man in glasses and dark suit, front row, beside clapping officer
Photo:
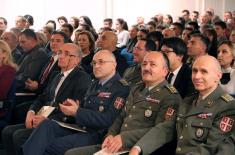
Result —
[[[33, 101], [27, 113], [25, 125], [8, 126], [2, 132], [3, 143], [9, 155], [18, 152], [32, 129], [46, 119], [43, 115], [37, 114], [43, 106], [54, 106], [58, 109], [59, 103], [67, 98], [82, 101], [85, 96], [91, 80], [90, 76], [78, 67], [82, 57], [80, 48], [75, 44], [64, 44], [58, 56], [61, 73], [51, 79], [44, 93]], [[59, 110], [55, 110], [50, 117], [61, 118], [63, 115]]]

